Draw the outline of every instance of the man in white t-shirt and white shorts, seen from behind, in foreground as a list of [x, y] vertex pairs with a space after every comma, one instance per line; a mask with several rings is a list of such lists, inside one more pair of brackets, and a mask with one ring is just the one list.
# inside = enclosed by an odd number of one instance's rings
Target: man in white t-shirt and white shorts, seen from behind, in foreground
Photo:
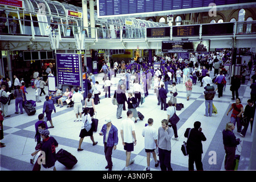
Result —
[[142, 135], [145, 138], [145, 151], [147, 153], [147, 168], [146, 171], [150, 171], [150, 156], [151, 152], [153, 154], [153, 158], [155, 160], [155, 167], [159, 166], [159, 160], [156, 158], [155, 149], [157, 147], [157, 130], [152, 127], [153, 119], [148, 119], [148, 126], [144, 127], [142, 131]]

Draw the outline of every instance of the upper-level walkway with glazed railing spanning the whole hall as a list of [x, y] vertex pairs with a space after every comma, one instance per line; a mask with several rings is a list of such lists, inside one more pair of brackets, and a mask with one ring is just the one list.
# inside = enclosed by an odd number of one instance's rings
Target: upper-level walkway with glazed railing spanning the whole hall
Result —
[[[1, 18], [1, 50], [39, 49], [161, 49], [166, 40], [211, 41], [210, 48], [255, 48], [256, 21], [166, 27], [91, 28]], [[5, 23], [9, 22], [9, 23]], [[49, 36], [51, 35], [51, 36]], [[52, 38], [52, 35], [53, 38]], [[221, 44], [220, 44], [221, 42]]]

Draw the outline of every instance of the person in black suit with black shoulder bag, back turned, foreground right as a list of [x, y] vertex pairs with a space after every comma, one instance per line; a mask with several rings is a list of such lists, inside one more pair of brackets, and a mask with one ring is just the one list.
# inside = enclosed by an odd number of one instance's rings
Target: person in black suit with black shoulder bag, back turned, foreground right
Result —
[[197, 170], [203, 171], [202, 167], [202, 141], [206, 141], [204, 133], [202, 133], [201, 122], [194, 122], [194, 128], [186, 129], [184, 137], [188, 138], [186, 149], [189, 155], [189, 171], [194, 171], [194, 163]]

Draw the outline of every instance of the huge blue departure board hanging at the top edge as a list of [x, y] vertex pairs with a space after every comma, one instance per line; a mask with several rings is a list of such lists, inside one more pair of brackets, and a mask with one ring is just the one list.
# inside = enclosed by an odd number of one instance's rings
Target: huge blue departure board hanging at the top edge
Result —
[[136, 16], [138, 14], [162, 13], [169, 10], [190, 9], [209, 6], [210, 3], [231, 5], [251, 0], [97, 0], [98, 18]]

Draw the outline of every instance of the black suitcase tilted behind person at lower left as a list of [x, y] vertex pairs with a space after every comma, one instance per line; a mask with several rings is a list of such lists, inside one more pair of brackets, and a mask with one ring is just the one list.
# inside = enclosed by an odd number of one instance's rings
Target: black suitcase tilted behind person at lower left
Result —
[[57, 152], [56, 158], [58, 162], [62, 163], [68, 169], [72, 169], [78, 163], [76, 157], [63, 148]]

